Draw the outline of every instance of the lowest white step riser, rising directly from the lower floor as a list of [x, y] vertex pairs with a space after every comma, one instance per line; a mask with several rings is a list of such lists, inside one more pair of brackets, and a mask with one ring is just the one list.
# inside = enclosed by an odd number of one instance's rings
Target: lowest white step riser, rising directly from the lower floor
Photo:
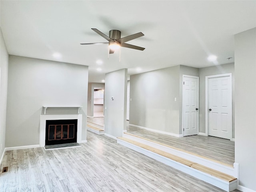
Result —
[[234, 180], [232, 182], [226, 182], [226, 181], [221, 180], [219, 178], [216, 178], [216, 177], [214, 177], [212, 175], [206, 174], [204, 172], [201, 172], [199, 170], [196, 170], [194, 168], [191, 168], [189, 166], [186, 166], [184, 164], [181, 164], [179, 162], [176, 162], [174, 160], [171, 160], [169, 158], [166, 158], [164, 156], [161, 156], [159, 154], [156, 154], [154, 152], [151, 152], [149, 150], [146, 150], [144, 148], [141, 148], [141, 147], [136, 146], [134, 144], [131, 144], [129, 142], [126, 142], [124, 140], [117, 139], [117, 142], [119, 144], [123, 145], [123, 146], [126, 146], [126, 147], [128, 147], [128, 148], [130, 148], [132, 150], [140, 152], [140, 153], [142, 153], [142, 154], [144, 154], [144, 155], [146, 155], [146, 156], [148, 156], [150, 158], [153, 158], [153, 159], [155, 159], [155, 160], [157, 160], [159, 162], [162, 162], [162, 163], [164, 163], [164, 164], [166, 164], [168, 166], [171, 166], [171, 167], [173, 167], [173, 168], [175, 168], [177, 170], [180, 170], [180, 171], [182, 171], [182, 172], [184, 172], [186, 174], [189, 174], [189, 175], [194, 176], [194, 177], [196, 177], [196, 178], [198, 178], [200, 180], [203, 180], [203, 181], [205, 181], [207, 183], [210, 183], [210, 184], [212, 184], [212, 185], [214, 185], [214, 186], [216, 186], [218, 188], [221, 188], [221, 189], [223, 189], [225, 191], [230, 192], [230, 191], [235, 190], [237, 188], [237, 180]]

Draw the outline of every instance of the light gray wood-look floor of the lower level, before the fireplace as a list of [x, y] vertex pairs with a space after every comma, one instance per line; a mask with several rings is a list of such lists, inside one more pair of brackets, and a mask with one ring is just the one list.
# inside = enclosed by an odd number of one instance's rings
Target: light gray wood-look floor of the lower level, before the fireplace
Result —
[[82, 147], [7, 151], [1, 170], [9, 170], [0, 174], [0, 191], [222, 192], [112, 138], [87, 134]]

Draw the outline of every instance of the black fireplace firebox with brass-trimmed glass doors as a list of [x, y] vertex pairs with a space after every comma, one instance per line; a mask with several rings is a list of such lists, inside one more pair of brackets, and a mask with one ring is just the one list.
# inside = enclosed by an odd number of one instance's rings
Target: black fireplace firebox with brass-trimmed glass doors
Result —
[[45, 145], [76, 143], [77, 119], [46, 120]]

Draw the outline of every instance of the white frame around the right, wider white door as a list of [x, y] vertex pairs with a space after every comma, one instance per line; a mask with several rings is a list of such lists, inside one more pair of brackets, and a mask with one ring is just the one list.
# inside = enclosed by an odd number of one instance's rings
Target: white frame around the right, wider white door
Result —
[[[205, 134], [206, 136], [209, 136], [209, 122], [208, 122], [208, 107], [209, 107], [209, 79], [212, 78], [218, 78], [218, 77], [230, 77], [231, 81], [231, 100], [232, 100], [232, 73], [225, 73], [225, 74], [218, 74], [218, 75], [209, 75], [205, 76]], [[231, 102], [231, 113], [233, 116], [233, 108], [232, 108], [232, 102]], [[231, 118], [232, 121], [232, 118]], [[232, 122], [233, 125], [233, 122]], [[233, 135], [233, 127], [231, 128], [231, 133], [230, 133], [230, 140], [232, 140], [232, 135]]]

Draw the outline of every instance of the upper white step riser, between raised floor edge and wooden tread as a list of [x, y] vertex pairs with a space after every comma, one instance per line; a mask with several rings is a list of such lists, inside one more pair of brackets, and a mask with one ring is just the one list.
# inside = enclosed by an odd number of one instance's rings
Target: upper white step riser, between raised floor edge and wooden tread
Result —
[[148, 141], [148, 140], [145, 140], [145, 139], [142, 139], [142, 138], [138, 138], [136, 136], [132, 136], [132, 135], [129, 135], [129, 134], [123, 134], [123, 137], [134, 140], [134, 141], [137, 141], [137, 142], [140, 142], [142, 144], [146, 144], [148, 146], [157, 148], [157, 149], [165, 151], [167, 153], [179, 156], [181, 158], [190, 160], [192, 162], [201, 164], [201, 165], [206, 166], [206, 167], [210, 167], [214, 170], [218, 170], [222, 173], [226, 173], [230, 176], [238, 178], [238, 166], [237, 165], [234, 166], [234, 167], [225, 166], [225, 165], [220, 164], [218, 162], [214, 162], [214, 161], [211, 161], [211, 160], [208, 160], [208, 159], [196, 156], [196, 155], [192, 155], [192, 154], [180, 151], [180, 150], [176, 150], [176, 149], [173, 149], [173, 148], [170, 148], [170, 147], [167, 147], [167, 146], [163, 146], [161, 144], [151, 142], [151, 141]]

